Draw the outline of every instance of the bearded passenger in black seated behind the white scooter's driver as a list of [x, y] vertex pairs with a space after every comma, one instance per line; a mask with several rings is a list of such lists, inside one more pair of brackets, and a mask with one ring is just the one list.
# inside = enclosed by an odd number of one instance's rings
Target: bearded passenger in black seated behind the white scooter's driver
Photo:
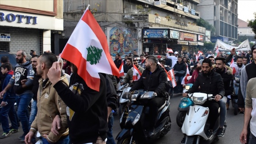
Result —
[[[218, 131], [218, 137], [224, 137], [225, 132], [225, 118], [226, 118], [226, 102], [227, 102], [227, 96], [230, 96], [233, 93], [234, 86], [233, 86], [233, 75], [229, 74], [227, 71], [225, 65], [225, 58], [223, 57], [217, 57], [216, 59], [216, 67], [214, 71], [216, 73], [219, 73], [222, 77], [223, 83], [224, 83], [224, 89], [225, 89], [225, 95], [223, 98], [219, 101], [219, 107], [220, 107], [220, 121], [219, 121], [219, 131]], [[229, 103], [227, 104], [228, 107]]]

